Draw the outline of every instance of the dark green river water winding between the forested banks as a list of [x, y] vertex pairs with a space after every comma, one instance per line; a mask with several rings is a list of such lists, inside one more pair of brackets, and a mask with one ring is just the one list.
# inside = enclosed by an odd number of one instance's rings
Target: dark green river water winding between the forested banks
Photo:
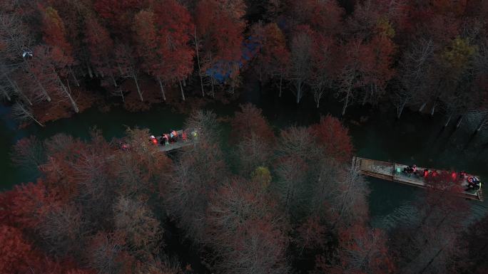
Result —
[[[265, 117], [276, 129], [290, 125], [310, 125], [320, 119], [320, 115], [340, 113], [340, 105], [333, 98], [325, 98], [323, 107], [317, 110], [312, 102], [294, 103], [291, 95], [277, 98], [273, 94], [261, 93], [259, 86], [249, 86], [248, 92], [240, 98], [241, 102], [253, 102], [263, 109]], [[252, 91], [250, 91], [252, 90]], [[214, 105], [209, 108], [218, 115], [231, 115], [238, 109], [238, 104]], [[0, 172], [1, 188], [9, 189], [14, 184], [35, 179], [36, 174], [26, 172], [11, 165], [9, 153], [16, 140], [30, 135], [39, 139], [51, 137], [59, 132], [81, 137], [88, 137], [91, 127], [102, 130], [103, 135], [123, 136], [126, 126], [148, 127], [158, 134], [172, 128], [181, 128], [185, 115], [171, 112], [169, 107], [154, 107], [148, 112], [127, 112], [114, 108], [110, 112], [99, 112], [95, 108], [71, 118], [49, 122], [41, 128], [32, 125], [18, 130], [6, 117], [8, 109], [0, 108]], [[363, 122], [358, 125], [362, 117]], [[342, 118], [355, 144], [356, 154], [360, 157], [385, 161], [417, 164], [438, 169], [465, 169], [468, 172], [488, 178], [488, 145], [482, 135], [473, 136], [464, 127], [454, 130], [442, 128], [442, 117], [429, 117], [416, 112], [405, 111], [400, 121], [395, 120], [394, 110], [381, 112], [367, 107], [353, 108]], [[410, 202], [415, 200], [419, 189], [403, 186], [389, 181], [368, 179], [370, 182], [370, 212], [375, 226], [390, 226], [398, 218], [407, 218], [412, 212]], [[488, 212], [487, 201], [472, 201], [474, 216], [484, 216]]]

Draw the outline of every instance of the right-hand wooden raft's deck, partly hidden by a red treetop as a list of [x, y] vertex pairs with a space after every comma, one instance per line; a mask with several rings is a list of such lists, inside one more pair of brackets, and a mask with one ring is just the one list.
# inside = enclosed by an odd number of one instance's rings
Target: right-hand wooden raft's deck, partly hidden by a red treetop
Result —
[[[408, 184], [410, 186], [422, 187], [424, 189], [428, 187], [427, 184], [425, 184], [424, 177], [417, 176], [415, 174], [403, 173], [402, 171], [405, 167], [407, 167], [407, 165], [405, 164], [396, 164], [360, 157], [352, 157], [352, 168], [356, 169], [357, 172], [365, 176], [372, 176], [379, 179], [385, 179], [387, 181], [396, 181], [400, 184]], [[417, 169], [423, 171], [425, 168], [417, 167]], [[464, 189], [467, 188], [467, 182], [465, 180], [463, 181], [462, 186], [464, 187]], [[467, 199], [483, 201], [482, 189], [479, 189], [477, 191], [462, 191], [459, 192], [458, 195]]]

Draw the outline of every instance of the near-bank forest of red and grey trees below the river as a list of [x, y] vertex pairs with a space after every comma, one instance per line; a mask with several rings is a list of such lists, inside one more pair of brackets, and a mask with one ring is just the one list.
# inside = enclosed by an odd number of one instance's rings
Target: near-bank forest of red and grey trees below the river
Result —
[[383, 231], [337, 118], [275, 132], [248, 104], [230, 124], [223, 140], [193, 112], [198, 142], [168, 155], [130, 128], [128, 150], [96, 130], [21, 139], [14, 162], [41, 176], [0, 194], [0, 273], [487, 273], [488, 217], [466, 227], [450, 173]]

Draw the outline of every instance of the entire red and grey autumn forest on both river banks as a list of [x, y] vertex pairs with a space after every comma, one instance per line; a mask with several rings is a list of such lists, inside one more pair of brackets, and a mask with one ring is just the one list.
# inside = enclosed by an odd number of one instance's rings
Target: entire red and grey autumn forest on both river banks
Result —
[[[487, 29], [484, 0], [7, 0], [0, 98], [44, 127], [113, 102], [229, 102], [253, 78], [342, 115], [410, 108], [479, 132]], [[198, 142], [168, 153], [139, 128], [130, 149], [96, 129], [20, 139], [12, 162], [39, 178], [0, 192], [0, 274], [488, 273], [488, 216], [472, 218], [451, 172], [378, 228], [340, 120], [276, 129], [250, 104], [228, 120], [227, 137], [194, 110]]]

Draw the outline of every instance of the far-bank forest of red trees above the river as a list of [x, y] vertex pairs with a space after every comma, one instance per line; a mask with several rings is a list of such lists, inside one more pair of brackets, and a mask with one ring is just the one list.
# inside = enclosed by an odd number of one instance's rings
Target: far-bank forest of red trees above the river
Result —
[[24, 122], [111, 96], [129, 110], [228, 100], [248, 70], [297, 103], [332, 95], [342, 115], [411, 107], [488, 127], [487, 1], [11, 0], [0, 12], [1, 98]]

